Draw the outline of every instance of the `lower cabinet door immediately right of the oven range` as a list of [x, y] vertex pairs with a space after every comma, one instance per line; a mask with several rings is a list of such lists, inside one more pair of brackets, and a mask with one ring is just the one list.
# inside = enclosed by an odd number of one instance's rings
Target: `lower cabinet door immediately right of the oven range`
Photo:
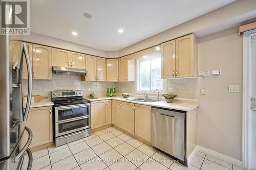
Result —
[[91, 120], [92, 129], [106, 125], [105, 101], [91, 103]]

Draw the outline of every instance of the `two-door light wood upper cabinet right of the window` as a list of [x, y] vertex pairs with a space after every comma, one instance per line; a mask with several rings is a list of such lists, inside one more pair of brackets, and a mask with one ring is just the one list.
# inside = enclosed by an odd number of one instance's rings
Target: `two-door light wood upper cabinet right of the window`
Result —
[[164, 78], [197, 77], [197, 38], [194, 34], [161, 44]]

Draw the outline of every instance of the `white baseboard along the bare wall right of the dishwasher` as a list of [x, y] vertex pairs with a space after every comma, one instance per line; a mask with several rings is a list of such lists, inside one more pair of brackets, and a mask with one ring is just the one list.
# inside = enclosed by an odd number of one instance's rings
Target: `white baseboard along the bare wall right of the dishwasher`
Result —
[[[195, 150], [194, 150], [194, 151], [195, 151]], [[193, 153], [194, 153], [194, 151], [193, 151]], [[228, 162], [228, 163], [230, 163], [230, 164], [234, 164], [234, 165], [236, 165], [236, 166], [242, 168], [242, 161], [237, 160], [237, 159], [234, 159], [234, 158], [232, 158], [232, 157], [230, 157], [230, 156], [223, 155], [223, 154], [221, 154], [221, 153], [219, 153], [219, 152], [209, 150], [209, 149], [207, 149], [207, 148], [201, 147], [200, 145], [197, 145], [196, 151], [200, 151], [200, 152], [202, 152], [202, 153], [205, 153], [205, 154], [207, 154], [207, 155], [213, 156], [213, 157], [215, 157], [215, 158], [221, 159], [221, 160], [223, 160], [223, 161], [226, 161], [226, 162]], [[192, 155], [192, 154], [191, 154], [191, 155]], [[190, 156], [189, 156], [189, 158], [190, 158]]]

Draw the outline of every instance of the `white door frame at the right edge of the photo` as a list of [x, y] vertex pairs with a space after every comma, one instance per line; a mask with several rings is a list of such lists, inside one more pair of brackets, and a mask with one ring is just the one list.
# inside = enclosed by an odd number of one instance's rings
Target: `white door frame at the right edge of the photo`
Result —
[[252, 93], [252, 49], [251, 36], [256, 30], [245, 32], [243, 35], [243, 168], [250, 168], [249, 155], [251, 154], [251, 93]]

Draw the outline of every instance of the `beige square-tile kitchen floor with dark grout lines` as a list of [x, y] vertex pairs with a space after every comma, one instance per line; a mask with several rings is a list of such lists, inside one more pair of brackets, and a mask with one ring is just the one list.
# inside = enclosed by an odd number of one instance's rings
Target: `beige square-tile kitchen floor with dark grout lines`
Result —
[[[241, 170], [230, 163], [197, 152], [188, 167], [174, 161], [145, 143], [110, 127], [91, 136], [33, 153], [32, 169], [171, 169]], [[27, 169], [28, 158], [23, 169]]]

